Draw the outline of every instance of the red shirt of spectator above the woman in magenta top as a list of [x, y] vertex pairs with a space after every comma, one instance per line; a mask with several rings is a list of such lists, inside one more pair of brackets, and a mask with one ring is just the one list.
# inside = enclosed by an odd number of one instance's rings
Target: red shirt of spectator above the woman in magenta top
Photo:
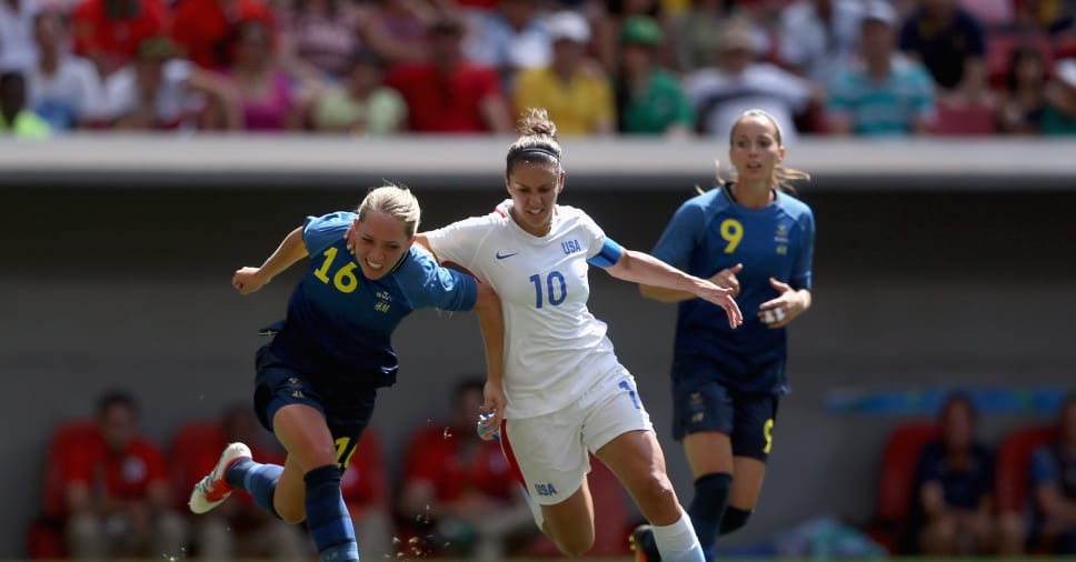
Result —
[[181, 0], [176, 7], [172, 39], [186, 58], [203, 69], [220, 70], [240, 22], [257, 20], [276, 32], [272, 10], [261, 0]]

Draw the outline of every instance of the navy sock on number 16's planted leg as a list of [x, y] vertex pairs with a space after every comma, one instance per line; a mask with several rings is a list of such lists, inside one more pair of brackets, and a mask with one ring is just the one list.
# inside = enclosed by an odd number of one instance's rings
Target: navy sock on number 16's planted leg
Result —
[[358, 562], [351, 515], [340, 493], [340, 468], [313, 469], [302, 476], [307, 484], [307, 528], [323, 562]]

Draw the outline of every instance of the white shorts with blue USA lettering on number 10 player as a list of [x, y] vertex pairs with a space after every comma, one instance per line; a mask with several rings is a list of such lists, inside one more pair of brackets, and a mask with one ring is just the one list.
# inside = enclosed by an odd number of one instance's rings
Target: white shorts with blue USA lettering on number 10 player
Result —
[[501, 444], [530, 496], [542, 505], [554, 505], [582, 485], [590, 472], [588, 451], [636, 430], [654, 431], [654, 425], [635, 378], [621, 367], [556, 412], [505, 420], [507, 439]]

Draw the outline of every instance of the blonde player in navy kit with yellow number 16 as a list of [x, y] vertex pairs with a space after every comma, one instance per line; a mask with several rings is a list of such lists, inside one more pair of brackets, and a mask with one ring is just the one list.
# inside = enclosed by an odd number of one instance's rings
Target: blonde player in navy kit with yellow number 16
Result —
[[[288, 458], [283, 466], [259, 464], [247, 445], [229, 444], [195, 485], [191, 511], [205, 513], [233, 490], [246, 490], [282, 520], [306, 520], [322, 561], [357, 562], [340, 476], [373, 413], [377, 389], [396, 381], [390, 344], [396, 327], [417, 309], [475, 310], [489, 375], [500, 377], [500, 300], [488, 285], [441, 268], [412, 245], [419, 214], [407, 189], [378, 188], [356, 212], [310, 217], [260, 268], [236, 271], [232, 285], [249, 294], [310, 257], [287, 318], [268, 329], [273, 339], [256, 358], [255, 410]], [[355, 255], [343, 239], [349, 227]], [[488, 401], [484, 408], [504, 410], [504, 404]]]

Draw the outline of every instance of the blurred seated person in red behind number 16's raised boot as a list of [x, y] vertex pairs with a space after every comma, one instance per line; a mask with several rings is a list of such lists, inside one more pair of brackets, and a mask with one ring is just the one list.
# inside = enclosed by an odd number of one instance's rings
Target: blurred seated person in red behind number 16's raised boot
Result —
[[[253, 410], [243, 404], [229, 408], [220, 420], [218, 439], [207, 439], [196, 451], [172, 460], [177, 472], [190, 481], [180, 482], [189, 490], [202, 474], [213, 470], [220, 451], [236, 441], [247, 443], [259, 459], [283, 464], [285, 454], [267, 444], [268, 433], [258, 424]], [[203, 560], [272, 558], [300, 560], [306, 554], [306, 538], [299, 528], [289, 525], [255, 504], [249, 495], [237, 498], [198, 518], [193, 526], [195, 555]]]

